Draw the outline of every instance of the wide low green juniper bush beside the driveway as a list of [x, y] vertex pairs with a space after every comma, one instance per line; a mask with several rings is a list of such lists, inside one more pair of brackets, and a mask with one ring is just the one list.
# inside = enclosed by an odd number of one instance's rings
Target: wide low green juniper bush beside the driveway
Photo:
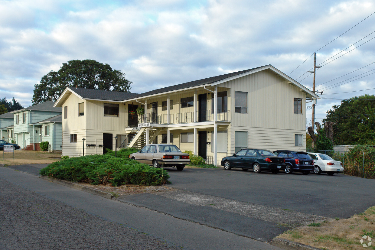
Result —
[[156, 186], [170, 183], [165, 169], [153, 168], [128, 157], [113, 157], [110, 154], [72, 157], [49, 164], [40, 170], [40, 175], [93, 185]]

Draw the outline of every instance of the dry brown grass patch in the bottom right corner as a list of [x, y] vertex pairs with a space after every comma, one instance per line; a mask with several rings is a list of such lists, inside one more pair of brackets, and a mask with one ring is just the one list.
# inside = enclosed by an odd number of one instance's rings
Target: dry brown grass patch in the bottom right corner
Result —
[[[366, 235], [375, 241], [375, 207], [348, 219], [333, 219], [311, 223], [302, 228], [292, 229], [277, 238], [282, 238], [320, 249], [365, 249], [360, 243]], [[363, 243], [368, 243], [365, 240]], [[375, 249], [375, 243], [366, 249]]]

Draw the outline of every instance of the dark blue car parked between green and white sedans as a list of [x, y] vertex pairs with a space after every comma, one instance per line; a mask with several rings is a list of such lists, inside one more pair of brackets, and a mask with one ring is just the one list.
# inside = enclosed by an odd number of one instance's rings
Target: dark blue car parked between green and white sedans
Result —
[[310, 174], [314, 170], [314, 160], [306, 152], [293, 150], [273, 151], [277, 156], [285, 159], [285, 173], [302, 172], [304, 175]]

